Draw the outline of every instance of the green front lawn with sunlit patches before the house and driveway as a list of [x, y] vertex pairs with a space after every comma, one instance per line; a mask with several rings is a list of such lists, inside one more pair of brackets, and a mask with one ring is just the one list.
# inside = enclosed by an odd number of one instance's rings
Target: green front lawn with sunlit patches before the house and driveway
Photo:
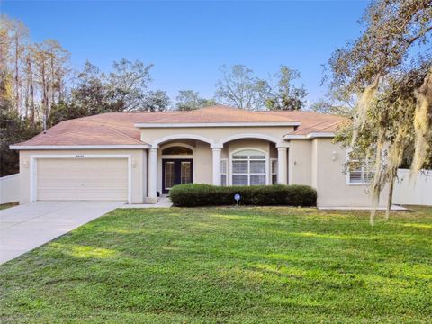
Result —
[[117, 210], [0, 266], [0, 322], [432, 321], [432, 209]]

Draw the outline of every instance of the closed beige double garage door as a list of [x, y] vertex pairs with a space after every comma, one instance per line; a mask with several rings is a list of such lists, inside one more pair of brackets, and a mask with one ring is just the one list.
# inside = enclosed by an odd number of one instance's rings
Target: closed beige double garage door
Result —
[[128, 200], [127, 158], [40, 158], [37, 200]]

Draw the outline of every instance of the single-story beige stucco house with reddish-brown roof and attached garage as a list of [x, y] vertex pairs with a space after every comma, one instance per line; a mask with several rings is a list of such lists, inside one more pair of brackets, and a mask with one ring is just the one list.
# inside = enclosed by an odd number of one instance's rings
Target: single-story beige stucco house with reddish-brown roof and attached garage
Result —
[[[307, 184], [320, 207], [369, 206], [362, 164], [346, 172], [332, 139], [342, 119], [316, 112], [119, 112], [63, 121], [20, 151], [21, 202], [154, 203], [175, 184]], [[358, 166], [359, 165], [359, 166]]]

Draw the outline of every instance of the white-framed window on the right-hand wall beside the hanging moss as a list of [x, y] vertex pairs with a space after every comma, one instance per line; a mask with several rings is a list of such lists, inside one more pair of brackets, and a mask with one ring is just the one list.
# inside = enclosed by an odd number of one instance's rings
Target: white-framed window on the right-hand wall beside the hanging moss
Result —
[[347, 152], [347, 184], [369, 184], [374, 178], [373, 163], [367, 158], [359, 158]]

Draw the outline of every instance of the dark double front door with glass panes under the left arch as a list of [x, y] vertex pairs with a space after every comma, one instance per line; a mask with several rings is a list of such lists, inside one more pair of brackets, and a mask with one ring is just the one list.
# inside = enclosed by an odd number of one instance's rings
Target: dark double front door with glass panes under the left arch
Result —
[[162, 159], [162, 193], [168, 193], [175, 184], [191, 184], [192, 182], [192, 158]]

